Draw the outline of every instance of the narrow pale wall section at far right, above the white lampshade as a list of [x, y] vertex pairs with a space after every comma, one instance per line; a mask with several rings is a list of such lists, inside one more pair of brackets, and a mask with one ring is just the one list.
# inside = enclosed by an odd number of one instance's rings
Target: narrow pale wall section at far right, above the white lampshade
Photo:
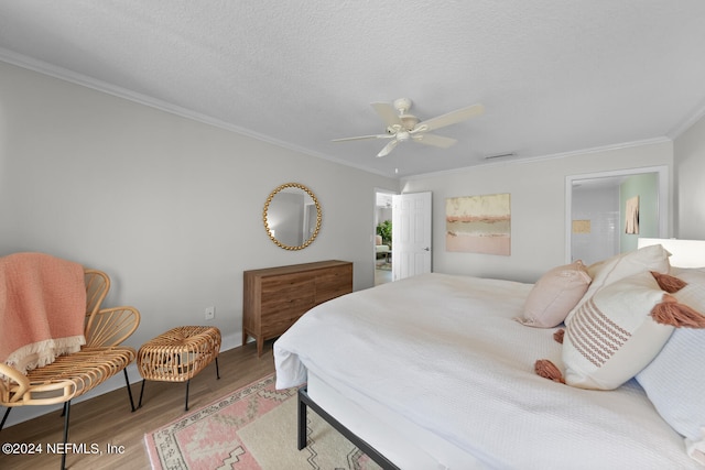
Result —
[[705, 117], [674, 141], [676, 236], [705, 240]]

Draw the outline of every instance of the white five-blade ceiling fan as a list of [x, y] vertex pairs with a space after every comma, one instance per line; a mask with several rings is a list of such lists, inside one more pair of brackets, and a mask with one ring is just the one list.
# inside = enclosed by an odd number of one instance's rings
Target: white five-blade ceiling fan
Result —
[[360, 135], [356, 138], [334, 139], [333, 142], [346, 142], [370, 139], [391, 139], [387, 145], [377, 154], [378, 157], [387, 156], [400, 143], [405, 141], [419, 142], [425, 145], [447, 149], [457, 141], [443, 135], [431, 134], [429, 131], [457, 124], [458, 122], [474, 118], [485, 112], [482, 105], [473, 105], [456, 109], [448, 113], [421, 121], [413, 114], [409, 114], [411, 100], [399, 98], [393, 106], [388, 102], [373, 102], [372, 108], [387, 125], [387, 133], [375, 135]]

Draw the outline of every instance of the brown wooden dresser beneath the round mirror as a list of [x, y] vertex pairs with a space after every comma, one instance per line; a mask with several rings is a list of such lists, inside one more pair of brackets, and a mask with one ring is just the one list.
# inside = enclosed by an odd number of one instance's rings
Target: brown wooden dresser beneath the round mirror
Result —
[[245, 271], [242, 346], [257, 340], [262, 354], [265, 340], [282, 335], [314, 306], [352, 292], [352, 263], [319, 261]]

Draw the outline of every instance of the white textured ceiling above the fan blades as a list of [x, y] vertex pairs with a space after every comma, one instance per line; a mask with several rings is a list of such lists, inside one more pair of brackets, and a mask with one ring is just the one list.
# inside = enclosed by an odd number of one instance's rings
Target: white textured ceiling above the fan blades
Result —
[[[704, 46], [702, 0], [0, 0], [2, 61], [390, 176], [673, 138]], [[401, 97], [486, 112], [446, 150], [330, 142]]]

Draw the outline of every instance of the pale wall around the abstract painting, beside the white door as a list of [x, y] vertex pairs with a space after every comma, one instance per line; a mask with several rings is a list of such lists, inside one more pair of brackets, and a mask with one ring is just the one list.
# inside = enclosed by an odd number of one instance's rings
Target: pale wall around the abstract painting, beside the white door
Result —
[[[534, 282], [545, 271], [565, 263], [566, 176], [658, 165], [672, 168], [672, 142], [664, 140], [417, 176], [404, 179], [402, 190], [433, 192], [435, 272]], [[446, 252], [445, 199], [497, 193], [511, 194], [511, 255]]]

